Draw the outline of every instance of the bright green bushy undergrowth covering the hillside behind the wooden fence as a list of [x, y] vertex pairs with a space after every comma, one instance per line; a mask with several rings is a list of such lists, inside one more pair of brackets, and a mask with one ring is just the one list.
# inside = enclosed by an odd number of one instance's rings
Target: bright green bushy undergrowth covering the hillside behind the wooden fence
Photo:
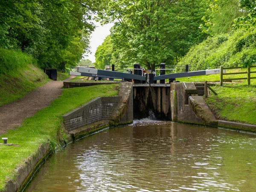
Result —
[[180, 64], [190, 70], [247, 67], [256, 62], [256, 29], [237, 29], [232, 34], [215, 35], [189, 50]]

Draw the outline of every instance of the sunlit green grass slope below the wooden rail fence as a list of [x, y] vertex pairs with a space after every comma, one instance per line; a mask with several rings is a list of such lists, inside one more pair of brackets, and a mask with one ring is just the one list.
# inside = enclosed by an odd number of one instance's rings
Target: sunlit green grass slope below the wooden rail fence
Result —
[[225, 84], [212, 86], [207, 105], [218, 119], [256, 125], [256, 85]]

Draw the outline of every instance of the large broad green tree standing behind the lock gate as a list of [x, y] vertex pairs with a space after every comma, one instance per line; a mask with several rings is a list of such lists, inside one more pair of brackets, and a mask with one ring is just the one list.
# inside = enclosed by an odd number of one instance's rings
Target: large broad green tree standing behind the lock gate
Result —
[[[115, 22], [111, 29], [114, 56], [121, 64], [139, 62], [148, 69], [177, 63], [205, 38], [201, 0], [110, 0], [99, 17]], [[108, 61], [108, 60], [106, 60]]]

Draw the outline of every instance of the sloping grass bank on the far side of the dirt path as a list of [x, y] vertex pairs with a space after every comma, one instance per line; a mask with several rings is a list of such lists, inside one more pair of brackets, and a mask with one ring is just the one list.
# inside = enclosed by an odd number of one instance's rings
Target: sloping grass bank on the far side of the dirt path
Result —
[[0, 106], [20, 99], [49, 81], [47, 75], [32, 64], [15, 72], [0, 74]]

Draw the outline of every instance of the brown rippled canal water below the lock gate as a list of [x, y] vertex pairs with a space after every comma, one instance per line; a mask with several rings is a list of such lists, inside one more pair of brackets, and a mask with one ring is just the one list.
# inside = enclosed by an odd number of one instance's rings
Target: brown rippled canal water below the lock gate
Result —
[[27, 192], [255, 192], [256, 135], [140, 120], [53, 154]]

